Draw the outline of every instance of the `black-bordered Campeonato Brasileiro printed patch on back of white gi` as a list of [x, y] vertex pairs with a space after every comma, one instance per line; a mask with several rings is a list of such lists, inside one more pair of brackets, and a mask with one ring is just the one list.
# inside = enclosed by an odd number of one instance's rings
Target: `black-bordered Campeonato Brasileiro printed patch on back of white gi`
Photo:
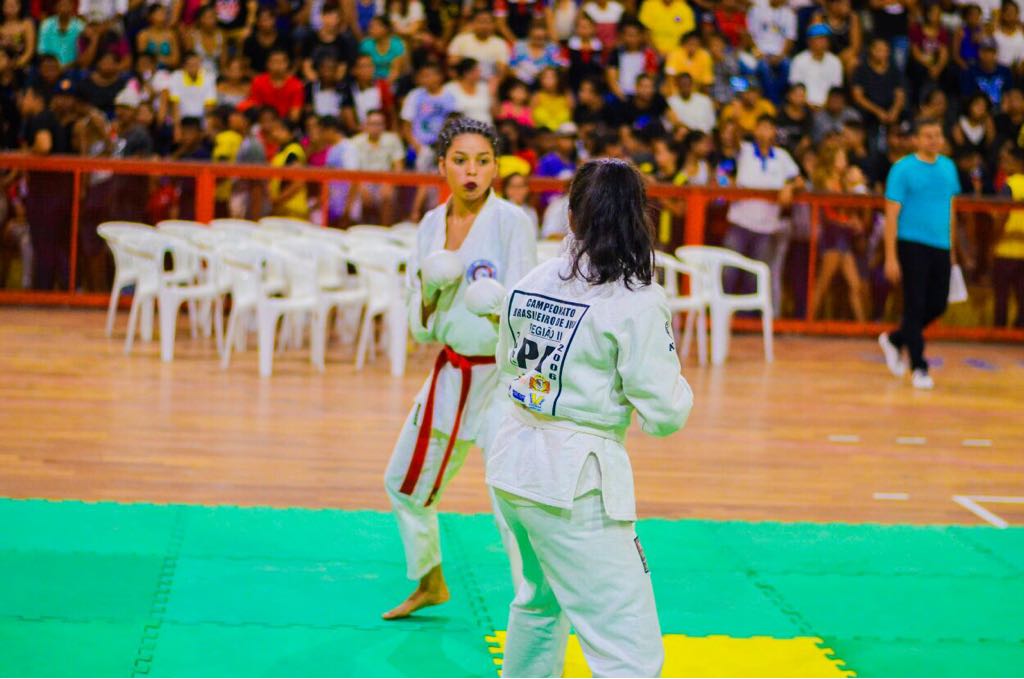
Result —
[[509, 395], [534, 412], [553, 416], [562, 381], [568, 379], [565, 356], [590, 306], [521, 290], [513, 291], [508, 303], [512, 348], [507, 360], [521, 371]]

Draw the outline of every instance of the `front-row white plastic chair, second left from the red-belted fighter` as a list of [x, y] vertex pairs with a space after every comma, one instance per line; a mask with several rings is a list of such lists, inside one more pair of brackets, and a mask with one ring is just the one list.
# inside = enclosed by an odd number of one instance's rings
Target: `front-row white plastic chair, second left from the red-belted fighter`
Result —
[[[286, 313], [309, 313], [315, 316], [317, 290], [315, 266], [278, 248], [246, 243], [226, 248], [221, 253], [223, 263], [231, 271], [231, 313], [227, 322], [227, 337], [223, 343], [221, 367], [227, 368], [236, 334], [244, 332], [244, 314], [256, 311], [259, 374], [269, 377], [273, 372], [273, 347], [278, 321]], [[264, 273], [271, 263], [285, 271], [286, 294], [271, 297], [264, 287]], [[315, 327], [316, 320], [313, 325]], [[310, 360], [324, 365], [324, 343], [311, 333]], [[323, 337], [323, 335], [321, 335]]]

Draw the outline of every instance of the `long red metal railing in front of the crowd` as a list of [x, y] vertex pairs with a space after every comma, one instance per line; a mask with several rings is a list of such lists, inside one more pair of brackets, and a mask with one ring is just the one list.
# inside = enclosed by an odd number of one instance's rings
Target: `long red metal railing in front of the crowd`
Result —
[[[321, 210], [323, 222], [327, 223], [328, 192], [333, 182], [391, 184], [393, 186], [434, 186], [443, 188], [443, 180], [437, 175], [391, 172], [354, 172], [350, 170], [330, 170], [323, 168], [272, 168], [267, 166], [230, 165], [200, 162], [167, 162], [142, 160], [95, 159], [84, 157], [37, 157], [27, 154], [0, 154], [0, 171], [49, 171], [68, 172], [74, 178], [74, 195], [81, 196], [83, 180], [90, 173], [112, 172], [122, 175], [142, 175], [154, 177], [190, 177], [195, 180], [195, 215], [196, 220], [208, 222], [214, 217], [215, 190], [217, 182], [223, 179], [282, 179], [286, 181], [301, 180], [319, 186]], [[557, 179], [530, 179], [529, 185], [534, 195], [542, 192], [563, 190], [566, 182]], [[737, 199], [759, 198], [775, 200], [772, 192], [751, 190], [741, 188], [720, 188], [705, 186], [673, 186], [668, 184], [652, 184], [648, 194], [651, 199], [683, 199], [685, 201], [685, 218], [682, 234], [676, 235], [676, 240], [687, 245], [701, 245], [707, 238], [708, 208], [719, 201], [734, 201]], [[315, 193], [313, 195], [316, 195]], [[30, 197], [31, 199], [32, 197]], [[37, 197], [38, 198], [38, 197]], [[857, 336], [881, 332], [890, 328], [891, 323], [857, 323], [852, 321], [818, 321], [810, 317], [810, 296], [814, 289], [817, 267], [817, 245], [821, 232], [822, 208], [861, 208], [882, 210], [885, 201], [880, 196], [837, 196], [826, 194], [799, 194], [795, 202], [806, 204], [810, 210], [810, 241], [807, 260], [807, 304], [804, 317], [782, 317], [775, 322], [779, 332], [796, 332], [810, 334]], [[72, 205], [71, 243], [69, 255], [69, 280], [67, 291], [33, 291], [0, 289], [0, 304], [43, 304], [72, 306], [103, 306], [109, 301], [109, 295], [102, 293], [81, 292], [78, 290], [78, 242], [81, 221], [80, 201]], [[1012, 209], [1024, 209], [1020, 205], [1005, 200], [977, 198], [958, 198], [955, 203], [957, 213], [1005, 214]], [[0, 282], [2, 283], [2, 282]], [[759, 329], [760, 320], [737, 319], [736, 327], [740, 329]], [[1024, 341], [1024, 330], [1011, 328], [992, 328], [979, 325], [957, 326], [938, 324], [929, 332], [930, 337], [969, 339]]]

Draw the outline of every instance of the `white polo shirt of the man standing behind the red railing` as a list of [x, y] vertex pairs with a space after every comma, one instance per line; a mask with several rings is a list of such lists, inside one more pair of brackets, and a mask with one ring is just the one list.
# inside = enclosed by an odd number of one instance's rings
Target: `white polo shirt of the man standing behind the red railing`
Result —
[[[773, 146], [765, 158], [750, 141], [740, 144], [737, 186], [778, 190], [799, 175], [800, 168], [784, 148]], [[756, 234], [775, 234], [782, 228], [778, 203], [774, 201], [736, 201], [729, 207], [728, 220]]]

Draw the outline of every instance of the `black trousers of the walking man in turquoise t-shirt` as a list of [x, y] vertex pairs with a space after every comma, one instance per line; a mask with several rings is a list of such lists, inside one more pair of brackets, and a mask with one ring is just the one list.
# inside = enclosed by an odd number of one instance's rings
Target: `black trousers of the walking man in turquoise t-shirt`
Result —
[[903, 280], [903, 320], [889, 335], [896, 348], [906, 347], [912, 370], [928, 371], [925, 328], [942, 315], [949, 298], [949, 251], [898, 241], [896, 253]]

